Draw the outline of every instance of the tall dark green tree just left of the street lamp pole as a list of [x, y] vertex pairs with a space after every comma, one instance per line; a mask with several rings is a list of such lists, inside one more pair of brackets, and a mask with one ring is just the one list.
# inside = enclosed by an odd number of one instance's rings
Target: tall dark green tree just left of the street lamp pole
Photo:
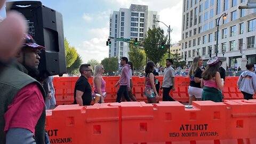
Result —
[[[158, 62], [164, 57], [164, 54], [168, 50], [166, 44], [167, 37], [164, 36], [164, 30], [161, 28], [153, 28], [147, 31], [146, 38], [143, 39], [144, 50], [149, 60], [154, 61], [157, 65]], [[161, 47], [161, 43], [165, 43], [164, 48]]]

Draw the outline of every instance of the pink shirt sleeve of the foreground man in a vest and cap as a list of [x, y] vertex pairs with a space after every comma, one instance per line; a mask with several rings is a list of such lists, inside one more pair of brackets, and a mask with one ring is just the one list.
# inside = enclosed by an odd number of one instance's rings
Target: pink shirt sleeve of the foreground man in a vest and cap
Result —
[[35, 126], [45, 110], [43, 95], [36, 83], [23, 87], [4, 114], [4, 131], [11, 128], [27, 129], [35, 134]]

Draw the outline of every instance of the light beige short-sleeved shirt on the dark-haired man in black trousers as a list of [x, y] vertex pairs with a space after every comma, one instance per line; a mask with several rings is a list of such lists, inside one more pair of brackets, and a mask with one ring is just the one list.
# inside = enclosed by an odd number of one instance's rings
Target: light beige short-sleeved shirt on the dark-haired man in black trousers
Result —
[[172, 86], [172, 77], [174, 77], [174, 69], [170, 67], [166, 67], [164, 69], [164, 81], [162, 87], [170, 87]]

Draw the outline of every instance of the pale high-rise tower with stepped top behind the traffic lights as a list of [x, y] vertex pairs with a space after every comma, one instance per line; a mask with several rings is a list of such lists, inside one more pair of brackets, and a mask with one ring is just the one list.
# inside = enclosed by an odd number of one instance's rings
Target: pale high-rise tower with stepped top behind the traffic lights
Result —
[[[147, 30], [157, 27], [159, 15], [156, 11], [148, 11], [147, 5], [132, 4], [130, 9], [121, 8], [114, 11], [109, 18], [109, 36], [116, 38], [129, 38], [142, 41]], [[129, 43], [115, 41], [111, 38], [109, 46], [109, 57], [129, 58]]]

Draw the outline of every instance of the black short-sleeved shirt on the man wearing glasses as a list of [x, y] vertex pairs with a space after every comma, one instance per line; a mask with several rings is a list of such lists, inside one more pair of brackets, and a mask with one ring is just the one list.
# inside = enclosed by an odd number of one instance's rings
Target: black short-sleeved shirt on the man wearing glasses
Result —
[[77, 79], [74, 91], [74, 104], [77, 104], [76, 90], [84, 92], [82, 95], [83, 106], [90, 106], [92, 102], [92, 87], [88, 82], [87, 78], [85, 78], [84, 76], [80, 76]]

